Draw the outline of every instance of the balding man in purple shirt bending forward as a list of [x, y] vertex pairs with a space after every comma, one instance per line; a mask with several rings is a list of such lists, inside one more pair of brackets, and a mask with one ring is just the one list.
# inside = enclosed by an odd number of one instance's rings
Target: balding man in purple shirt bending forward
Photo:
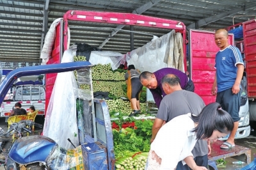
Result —
[[180, 86], [182, 89], [194, 91], [195, 86], [186, 73], [175, 68], [161, 68], [154, 73], [142, 72], [140, 74], [140, 82], [143, 86], [150, 89], [157, 107], [159, 108], [162, 98], [166, 95], [161, 85], [161, 80], [166, 74], [174, 74], [180, 78]]

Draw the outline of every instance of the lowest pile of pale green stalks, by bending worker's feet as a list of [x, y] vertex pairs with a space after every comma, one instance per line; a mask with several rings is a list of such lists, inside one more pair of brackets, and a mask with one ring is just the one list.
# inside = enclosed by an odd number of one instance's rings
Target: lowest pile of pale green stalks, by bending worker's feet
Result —
[[[128, 116], [132, 112], [129, 100], [125, 101], [121, 98], [116, 98], [113, 100], [106, 100], [106, 102], [109, 107], [109, 112], [122, 112], [124, 116]], [[140, 107], [141, 111], [146, 111], [146, 103], [141, 103]]]

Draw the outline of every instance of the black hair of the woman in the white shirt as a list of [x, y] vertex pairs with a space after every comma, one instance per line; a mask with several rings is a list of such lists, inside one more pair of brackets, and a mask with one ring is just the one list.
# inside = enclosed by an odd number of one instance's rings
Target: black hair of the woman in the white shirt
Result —
[[228, 134], [234, 128], [232, 117], [221, 109], [221, 105], [217, 102], [206, 105], [198, 116], [191, 114], [191, 118], [198, 123], [193, 130], [196, 132], [196, 139], [207, 139], [211, 137], [214, 130]]

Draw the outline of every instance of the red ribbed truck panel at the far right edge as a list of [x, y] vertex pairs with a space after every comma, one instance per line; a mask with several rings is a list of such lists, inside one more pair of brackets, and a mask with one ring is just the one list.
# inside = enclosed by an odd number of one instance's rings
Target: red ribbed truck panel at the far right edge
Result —
[[243, 23], [248, 97], [256, 98], [256, 20]]

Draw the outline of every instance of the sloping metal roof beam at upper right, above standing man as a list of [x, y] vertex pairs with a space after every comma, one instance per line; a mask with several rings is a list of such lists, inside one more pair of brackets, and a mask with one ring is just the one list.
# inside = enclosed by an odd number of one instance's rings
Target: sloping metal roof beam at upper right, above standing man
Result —
[[223, 13], [220, 13], [218, 15], [212, 15], [211, 17], [207, 17], [205, 19], [197, 20], [193, 24], [190, 24], [189, 26], [187, 26], [187, 28], [193, 29], [193, 28], [202, 27], [202, 26], [207, 25], [207, 24], [209, 24], [211, 22], [214, 22], [216, 20], [220, 20], [220, 19], [223, 19], [223, 18], [228, 17], [230, 15], [233, 15], [237, 12], [241, 12], [241, 11], [248, 10], [250, 8], [255, 8], [255, 7], [256, 7], [256, 3], [247, 4], [247, 5], [244, 5], [243, 7], [236, 8], [236, 10], [223, 12]]

